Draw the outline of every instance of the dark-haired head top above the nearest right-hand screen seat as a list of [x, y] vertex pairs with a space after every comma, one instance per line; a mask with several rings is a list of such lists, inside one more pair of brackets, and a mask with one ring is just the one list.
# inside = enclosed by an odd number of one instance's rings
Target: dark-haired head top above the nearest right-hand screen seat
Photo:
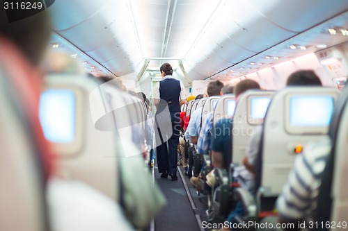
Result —
[[319, 77], [311, 70], [292, 73], [286, 81], [287, 86], [322, 86]]

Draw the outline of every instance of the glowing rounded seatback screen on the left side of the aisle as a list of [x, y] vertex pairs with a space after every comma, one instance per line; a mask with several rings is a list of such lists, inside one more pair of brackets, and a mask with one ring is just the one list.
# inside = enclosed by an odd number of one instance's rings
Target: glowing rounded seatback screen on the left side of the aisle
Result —
[[75, 94], [69, 89], [48, 89], [40, 96], [39, 117], [49, 142], [68, 143], [75, 138]]

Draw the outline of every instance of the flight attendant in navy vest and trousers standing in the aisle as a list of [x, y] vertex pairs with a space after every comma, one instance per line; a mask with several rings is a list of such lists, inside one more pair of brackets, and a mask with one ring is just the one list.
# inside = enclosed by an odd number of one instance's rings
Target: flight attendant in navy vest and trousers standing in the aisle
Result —
[[[158, 128], [157, 139], [161, 144], [156, 144], [158, 171], [161, 178], [171, 176], [171, 180], [177, 180], [177, 144], [180, 137], [180, 106], [186, 102], [186, 92], [180, 80], [173, 78], [173, 68], [169, 63], [164, 63], [159, 69], [163, 79], [157, 82], [155, 88], [155, 106], [157, 108], [155, 120], [161, 119], [159, 115], [168, 105], [171, 114], [171, 128]], [[167, 120], [162, 119], [162, 120]], [[170, 135], [172, 134], [172, 135]], [[167, 140], [168, 137], [168, 148]]]

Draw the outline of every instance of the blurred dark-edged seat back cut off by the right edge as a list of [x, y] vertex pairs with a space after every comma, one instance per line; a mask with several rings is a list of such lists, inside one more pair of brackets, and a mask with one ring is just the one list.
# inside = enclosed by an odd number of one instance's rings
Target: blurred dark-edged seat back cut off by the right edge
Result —
[[[348, 88], [342, 90], [340, 98], [335, 103], [331, 119], [329, 135], [331, 138], [331, 153], [329, 154], [324, 172], [322, 185], [319, 187], [319, 196], [315, 213], [315, 221], [332, 221], [332, 223], [345, 225], [348, 214]], [[344, 228], [344, 226], [341, 226]], [[325, 228], [324, 230], [329, 230]]]

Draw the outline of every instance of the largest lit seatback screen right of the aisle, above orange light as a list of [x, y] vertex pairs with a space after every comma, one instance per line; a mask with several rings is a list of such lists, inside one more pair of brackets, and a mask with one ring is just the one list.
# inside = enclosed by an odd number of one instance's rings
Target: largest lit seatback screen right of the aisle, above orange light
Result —
[[333, 103], [332, 96], [290, 97], [290, 126], [329, 126]]

